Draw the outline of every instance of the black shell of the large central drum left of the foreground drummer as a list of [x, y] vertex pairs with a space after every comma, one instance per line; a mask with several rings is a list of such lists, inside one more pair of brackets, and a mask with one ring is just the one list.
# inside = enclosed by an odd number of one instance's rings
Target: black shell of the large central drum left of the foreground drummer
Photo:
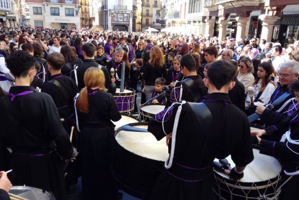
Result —
[[[130, 125], [147, 125], [147, 122], [131, 123]], [[118, 132], [119, 130], [116, 131], [115, 136]], [[146, 199], [163, 169], [164, 161], [134, 154], [114, 139], [112, 172], [124, 191], [138, 198]]]

